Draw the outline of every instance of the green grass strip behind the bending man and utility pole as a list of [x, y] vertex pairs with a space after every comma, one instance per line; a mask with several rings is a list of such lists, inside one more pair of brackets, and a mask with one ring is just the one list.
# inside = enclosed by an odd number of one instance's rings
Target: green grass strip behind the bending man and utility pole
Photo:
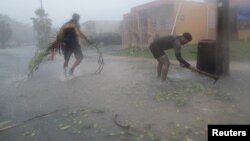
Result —
[[[186, 60], [197, 59], [197, 44], [189, 44], [182, 47], [182, 56]], [[174, 50], [165, 51], [170, 59], [176, 59]], [[129, 48], [112, 53], [115, 56], [130, 56], [153, 58], [149, 48], [140, 48], [130, 46]], [[230, 42], [230, 60], [232, 61], [250, 61], [250, 41], [231, 41]]]

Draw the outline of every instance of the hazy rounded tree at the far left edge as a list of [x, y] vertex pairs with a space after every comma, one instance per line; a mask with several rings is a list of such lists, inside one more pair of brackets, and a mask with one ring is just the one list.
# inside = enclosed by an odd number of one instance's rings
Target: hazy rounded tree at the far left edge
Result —
[[0, 42], [1, 47], [4, 47], [5, 43], [10, 39], [12, 30], [10, 25], [5, 21], [0, 21]]

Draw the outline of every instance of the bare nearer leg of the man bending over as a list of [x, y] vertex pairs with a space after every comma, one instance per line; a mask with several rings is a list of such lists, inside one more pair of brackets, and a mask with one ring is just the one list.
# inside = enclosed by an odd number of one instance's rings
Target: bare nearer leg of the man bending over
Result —
[[167, 74], [168, 74], [168, 69], [169, 69], [169, 59], [167, 55], [163, 55], [157, 59], [160, 63], [162, 63], [162, 69], [161, 69], [161, 74], [162, 74], [162, 81], [166, 81], [167, 79]]

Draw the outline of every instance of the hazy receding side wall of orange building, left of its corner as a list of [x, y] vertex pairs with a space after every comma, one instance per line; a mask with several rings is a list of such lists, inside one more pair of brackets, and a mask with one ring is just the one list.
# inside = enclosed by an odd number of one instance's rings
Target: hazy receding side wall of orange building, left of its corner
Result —
[[156, 36], [170, 35], [173, 0], [159, 0], [131, 9], [123, 18], [123, 45], [148, 47]]

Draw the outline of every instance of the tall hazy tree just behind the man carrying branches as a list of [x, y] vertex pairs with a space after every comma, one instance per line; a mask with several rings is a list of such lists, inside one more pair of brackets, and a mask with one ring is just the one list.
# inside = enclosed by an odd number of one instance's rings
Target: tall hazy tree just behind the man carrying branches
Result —
[[48, 14], [45, 13], [43, 8], [37, 9], [35, 14], [37, 18], [31, 18], [31, 20], [37, 33], [37, 47], [39, 49], [47, 48], [50, 43], [51, 19], [48, 18]]

